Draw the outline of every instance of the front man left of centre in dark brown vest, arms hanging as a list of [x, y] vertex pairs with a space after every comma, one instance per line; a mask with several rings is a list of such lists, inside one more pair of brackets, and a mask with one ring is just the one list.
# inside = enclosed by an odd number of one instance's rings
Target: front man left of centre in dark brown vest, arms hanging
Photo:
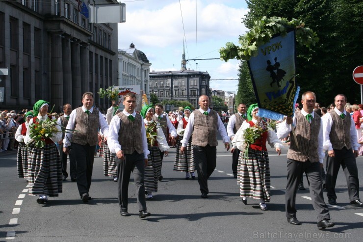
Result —
[[150, 216], [146, 211], [145, 201], [145, 166], [148, 164], [148, 143], [144, 120], [135, 112], [136, 96], [128, 93], [124, 96], [124, 110], [116, 114], [110, 123], [108, 147], [116, 153], [118, 198], [122, 216], [128, 213], [128, 191], [130, 173], [136, 186], [136, 199], [139, 217]]

